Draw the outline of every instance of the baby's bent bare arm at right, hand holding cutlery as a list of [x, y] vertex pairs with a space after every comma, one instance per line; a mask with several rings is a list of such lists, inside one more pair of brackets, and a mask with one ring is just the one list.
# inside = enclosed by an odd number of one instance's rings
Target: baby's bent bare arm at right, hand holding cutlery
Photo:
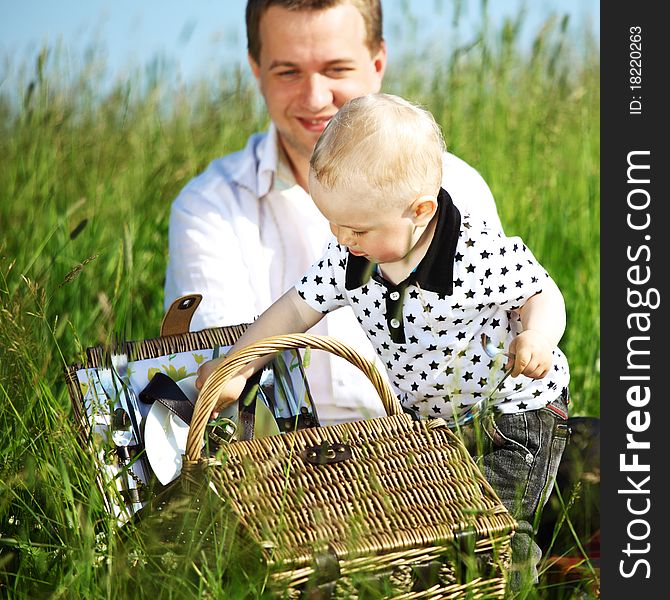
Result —
[[507, 367], [512, 366], [512, 377], [523, 374], [541, 379], [549, 372], [552, 352], [565, 331], [563, 295], [549, 278], [542, 292], [529, 298], [518, 313], [523, 331], [510, 344], [515, 357]]

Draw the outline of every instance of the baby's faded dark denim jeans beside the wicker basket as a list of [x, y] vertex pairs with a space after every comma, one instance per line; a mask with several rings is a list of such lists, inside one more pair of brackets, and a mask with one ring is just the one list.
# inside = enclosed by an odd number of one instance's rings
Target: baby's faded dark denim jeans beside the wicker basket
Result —
[[512, 590], [537, 581], [542, 551], [534, 534], [568, 440], [568, 403], [566, 388], [545, 408], [518, 414], [491, 412], [480, 427], [466, 426], [459, 432], [484, 477], [517, 520], [511, 543]]

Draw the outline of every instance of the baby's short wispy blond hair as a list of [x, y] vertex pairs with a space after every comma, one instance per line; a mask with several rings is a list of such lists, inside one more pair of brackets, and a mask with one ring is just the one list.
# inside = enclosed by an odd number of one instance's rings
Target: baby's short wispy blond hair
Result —
[[360, 191], [364, 182], [381, 206], [409, 205], [424, 194], [437, 196], [444, 150], [427, 110], [391, 94], [368, 94], [344, 104], [331, 119], [310, 166], [326, 189]]

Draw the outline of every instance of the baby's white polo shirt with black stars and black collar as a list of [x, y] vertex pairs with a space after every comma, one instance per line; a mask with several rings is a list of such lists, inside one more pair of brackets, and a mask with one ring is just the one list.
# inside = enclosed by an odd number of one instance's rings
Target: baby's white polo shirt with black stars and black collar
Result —
[[520, 238], [461, 216], [442, 189], [433, 239], [407, 279], [385, 280], [367, 258], [333, 240], [296, 289], [323, 313], [351, 305], [403, 406], [453, 421], [491, 393], [498, 410], [517, 413], [542, 408], [567, 388], [568, 363], [556, 348], [546, 377], [509, 377], [494, 392], [507, 358], [489, 358], [481, 343], [486, 334], [507, 350], [523, 330], [515, 310], [548, 277]]

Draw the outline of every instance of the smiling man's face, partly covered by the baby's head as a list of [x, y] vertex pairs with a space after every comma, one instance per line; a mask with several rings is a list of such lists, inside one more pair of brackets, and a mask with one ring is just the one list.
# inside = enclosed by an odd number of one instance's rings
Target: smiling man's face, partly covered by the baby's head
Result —
[[270, 7], [260, 21], [259, 63], [249, 58], [289, 156], [308, 160], [330, 118], [351, 98], [376, 93], [386, 49], [370, 55], [358, 10]]

